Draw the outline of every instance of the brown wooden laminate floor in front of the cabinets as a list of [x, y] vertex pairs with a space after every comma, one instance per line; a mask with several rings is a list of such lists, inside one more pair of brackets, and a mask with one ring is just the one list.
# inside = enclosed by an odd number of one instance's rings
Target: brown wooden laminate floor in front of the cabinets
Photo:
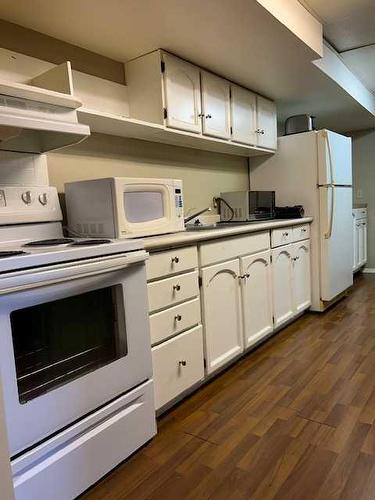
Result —
[[374, 500], [375, 276], [161, 418], [84, 498]]

